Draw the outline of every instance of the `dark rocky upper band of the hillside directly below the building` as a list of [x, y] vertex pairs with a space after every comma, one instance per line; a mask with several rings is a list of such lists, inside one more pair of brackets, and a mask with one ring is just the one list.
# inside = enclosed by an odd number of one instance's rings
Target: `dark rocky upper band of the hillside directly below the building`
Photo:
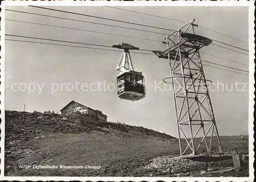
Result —
[[160, 140], [175, 139], [174, 137], [144, 127], [130, 126], [120, 123], [94, 122], [84, 115], [75, 113], [68, 118], [56, 113], [41, 113], [34, 111], [5, 111], [5, 136], [6, 147], [15, 141], [28, 141], [38, 135], [60, 132], [60, 133], [84, 133], [93, 130], [104, 133], [112, 133], [117, 137], [149, 138], [156, 137]]

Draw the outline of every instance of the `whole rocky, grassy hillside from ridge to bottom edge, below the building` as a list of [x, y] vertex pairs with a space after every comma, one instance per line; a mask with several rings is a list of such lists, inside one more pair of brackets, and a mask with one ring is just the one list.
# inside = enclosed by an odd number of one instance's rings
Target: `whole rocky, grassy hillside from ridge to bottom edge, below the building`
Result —
[[[176, 138], [144, 127], [97, 123], [84, 115], [68, 118], [34, 111], [6, 111], [5, 168], [7, 176], [248, 176], [248, 163], [233, 169], [232, 159], [205, 163], [180, 158]], [[196, 138], [200, 142], [202, 138]], [[221, 136], [229, 155], [248, 156], [248, 137]], [[181, 140], [185, 145], [186, 141]], [[212, 142], [216, 146], [216, 140]], [[216, 150], [217, 147], [212, 150]], [[204, 152], [205, 149], [199, 149]], [[230, 154], [231, 153], [231, 154]], [[245, 156], [246, 156], [245, 155]], [[20, 168], [32, 165], [95, 165], [100, 170]]]

